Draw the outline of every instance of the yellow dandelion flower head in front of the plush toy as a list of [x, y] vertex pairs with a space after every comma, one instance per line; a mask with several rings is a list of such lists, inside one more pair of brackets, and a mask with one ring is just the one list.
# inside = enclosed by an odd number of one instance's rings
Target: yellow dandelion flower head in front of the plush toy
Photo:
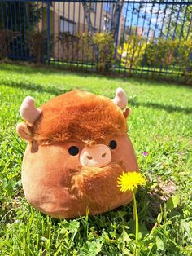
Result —
[[117, 187], [120, 187], [121, 192], [132, 191], [138, 188], [139, 185], [145, 185], [146, 179], [142, 174], [136, 171], [122, 173], [117, 179]]

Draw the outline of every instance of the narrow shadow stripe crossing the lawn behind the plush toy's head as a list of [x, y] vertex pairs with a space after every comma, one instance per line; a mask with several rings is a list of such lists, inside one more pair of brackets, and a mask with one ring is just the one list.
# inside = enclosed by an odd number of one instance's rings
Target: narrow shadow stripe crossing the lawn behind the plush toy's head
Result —
[[[10, 81], [4, 81], [3, 84], [5, 86], [11, 86], [15, 88], [20, 88], [20, 89], [25, 89], [25, 90], [33, 90], [33, 91], [38, 91], [38, 92], [46, 92], [52, 95], [61, 95], [63, 93], [68, 92], [68, 90], [64, 89], [59, 89], [58, 87], [52, 87], [52, 86], [41, 86], [38, 84], [30, 84], [28, 82], [10, 82]], [[133, 99], [129, 99], [129, 104], [135, 106], [135, 107], [146, 107], [146, 108], [155, 108], [155, 109], [160, 109], [160, 110], [165, 110], [168, 113], [172, 112], [181, 112], [185, 114], [190, 114], [192, 113], [192, 108], [181, 108], [179, 106], [173, 106], [173, 105], [163, 105], [163, 104], [158, 104], [158, 103], [152, 103], [152, 102], [147, 102], [147, 103], [139, 103]]]

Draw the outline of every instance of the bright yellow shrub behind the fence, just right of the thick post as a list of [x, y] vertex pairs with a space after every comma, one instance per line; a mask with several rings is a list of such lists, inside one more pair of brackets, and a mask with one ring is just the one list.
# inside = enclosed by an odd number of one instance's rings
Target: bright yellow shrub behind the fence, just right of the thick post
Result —
[[121, 64], [129, 68], [137, 68], [141, 64], [146, 49], [146, 41], [144, 38], [136, 35], [130, 35], [123, 46], [120, 46], [118, 53], [121, 58]]

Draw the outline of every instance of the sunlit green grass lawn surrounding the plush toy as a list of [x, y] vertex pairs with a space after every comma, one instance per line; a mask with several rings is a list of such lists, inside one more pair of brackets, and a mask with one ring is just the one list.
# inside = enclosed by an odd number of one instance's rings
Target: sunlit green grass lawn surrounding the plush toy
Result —
[[[38, 106], [76, 88], [112, 98], [118, 86], [129, 96], [129, 136], [148, 180], [137, 192], [137, 242], [132, 204], [56, 220], [28, 205], [20, 182], [26, 145], [15, 125], [26, 95]], [[135, 245], [138, 255], [192, 255], [191, 99], [187, 86], [0, 64], [0, 255], [132, 255]]]

